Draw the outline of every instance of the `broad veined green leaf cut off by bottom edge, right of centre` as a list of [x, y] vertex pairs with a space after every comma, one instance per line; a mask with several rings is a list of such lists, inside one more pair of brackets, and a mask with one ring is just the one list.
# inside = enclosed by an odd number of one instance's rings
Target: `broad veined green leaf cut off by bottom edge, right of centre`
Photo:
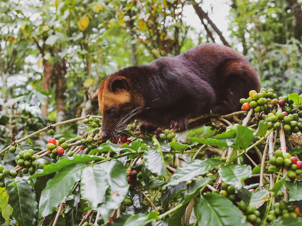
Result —
[[194, 212], [198, 225], [203, 226], [248, 226], [241, 211], [224, 196], [207, 193], [198, 202], [195, 199]]

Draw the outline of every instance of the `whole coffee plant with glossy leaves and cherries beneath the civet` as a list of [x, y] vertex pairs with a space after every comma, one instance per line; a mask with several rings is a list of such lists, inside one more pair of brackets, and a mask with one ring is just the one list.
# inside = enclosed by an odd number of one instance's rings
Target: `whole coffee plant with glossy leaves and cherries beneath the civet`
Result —
[[[302, 131], [302, 96], [262, 88], [240, 103], [243, 111], [191, 119], [216, 133], [186, 143], [176, 129], [144, 134], [135, 122], [104, 140], [96, 115], [12, 137], [0, 152], [16, 163], [0, 165], [1, 225], [302, 224], [302, 148], [290, 139]], [[75, 121], [82, 136], [53, 137], [53, 127]], [[45, 146], [26, 143], [46, 131]], [[177, 168], [183, 154], [191, 161]]]

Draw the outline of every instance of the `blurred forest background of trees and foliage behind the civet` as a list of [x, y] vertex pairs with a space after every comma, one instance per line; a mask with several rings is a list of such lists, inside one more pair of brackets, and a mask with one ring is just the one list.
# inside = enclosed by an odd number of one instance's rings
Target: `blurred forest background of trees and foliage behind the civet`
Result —
[[[245, 55], [262, 87], [300, 94], [302, 2], [220, 2], [229, 10], [221, 18], [228, 22], [228, 37], [211, 18], [220, 8], [206, 1], [1, 1], [0, 149], [12, 136], [24, 137], [47, 123], [98, 114], [91, 96], [120, 67], [206, 42]], [[198, 15], [194, 24], [202, 24], [201, 30], [186, 20], [186, 7]], [[56, 128], [56, 134], [71, 137], [79, 126]], [[39, 136], [27, 142], [46, 144]]]

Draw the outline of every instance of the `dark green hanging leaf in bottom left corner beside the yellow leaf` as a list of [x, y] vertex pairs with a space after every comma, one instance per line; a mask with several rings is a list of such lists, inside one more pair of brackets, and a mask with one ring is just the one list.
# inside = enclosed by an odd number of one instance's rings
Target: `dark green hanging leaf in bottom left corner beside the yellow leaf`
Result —
[[5, 191], [9, 196], [8, 203], [13, 208], [12, 216], [19, 226], [35, 225], [37, 218], [37, 201], [32, 187], [20, 177], [5, 178]]

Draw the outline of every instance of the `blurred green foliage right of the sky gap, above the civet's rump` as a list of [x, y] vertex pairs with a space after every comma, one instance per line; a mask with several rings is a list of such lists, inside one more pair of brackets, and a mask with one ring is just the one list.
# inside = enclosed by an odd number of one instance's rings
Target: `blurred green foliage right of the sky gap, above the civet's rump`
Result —
[[301, 93], [302, 30], [286, 1], [233, 1], [232, 40], [278, 95]]

